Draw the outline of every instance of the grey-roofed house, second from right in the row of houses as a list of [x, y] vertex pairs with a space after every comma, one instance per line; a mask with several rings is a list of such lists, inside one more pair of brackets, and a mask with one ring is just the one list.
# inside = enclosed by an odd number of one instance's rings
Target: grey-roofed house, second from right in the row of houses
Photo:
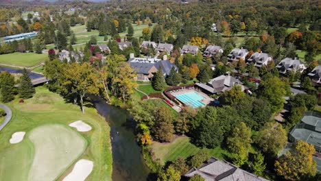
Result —
[[278, 68], [278, 71], [283, 74], [287, 73], [287, 71], [300, 71], [300, 73], [302, 73], [307, 69], [305, 63], [296, 58], [285, 58], [281, 60], [281, 62], [276, 65], [276, 68]]

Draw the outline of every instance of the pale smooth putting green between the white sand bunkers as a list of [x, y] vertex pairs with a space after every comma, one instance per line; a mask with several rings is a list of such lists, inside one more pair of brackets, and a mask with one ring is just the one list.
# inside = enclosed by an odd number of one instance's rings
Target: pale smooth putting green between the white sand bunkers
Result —
[[64, 125], [42, 125], [30, 132], [34, 161], [28, 180], [55, 180], [86, 148], [86, 140]]

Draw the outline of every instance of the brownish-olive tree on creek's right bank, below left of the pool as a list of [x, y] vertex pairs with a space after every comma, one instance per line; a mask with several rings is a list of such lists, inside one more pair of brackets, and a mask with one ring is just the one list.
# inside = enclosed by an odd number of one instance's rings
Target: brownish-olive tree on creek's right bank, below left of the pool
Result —
[[156, 108], [154, 127], [152, 134], [155, 140], [160, 142], [169, 142], [174, 136], [173, 114], [169, 114], [170, 110], [166, 107]]

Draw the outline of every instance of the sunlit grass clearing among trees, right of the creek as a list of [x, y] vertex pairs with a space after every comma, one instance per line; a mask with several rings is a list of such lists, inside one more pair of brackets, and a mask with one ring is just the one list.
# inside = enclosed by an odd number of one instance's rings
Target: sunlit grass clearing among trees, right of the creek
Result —
[[[158, 143], [154, 142], [152, 144], [152, 150], [156, 159], [159, 159], [161, 164], [165, 164], [167, 161], [176, 160], [178, 157], [188, 158], [200, 152], [200, 148], [196, 147], [189, 142], [189, 137], [178, 137], [171, 143]], [[224, 156], [230, 156], [226, 150], [221, 147], [216, 147], [215, 149], [207, 149], [211, 156], [216, 158], [224, 159]]]

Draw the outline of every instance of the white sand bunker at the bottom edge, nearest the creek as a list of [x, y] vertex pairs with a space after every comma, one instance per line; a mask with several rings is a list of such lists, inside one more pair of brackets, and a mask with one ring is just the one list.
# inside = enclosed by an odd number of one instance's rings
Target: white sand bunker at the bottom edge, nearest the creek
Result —
[[69, 173], [62, 181], [81, 181], [85, 180], [93, 171], [93, 162], [91, 160], [81, 159], [75, 163], [73, 171]]

